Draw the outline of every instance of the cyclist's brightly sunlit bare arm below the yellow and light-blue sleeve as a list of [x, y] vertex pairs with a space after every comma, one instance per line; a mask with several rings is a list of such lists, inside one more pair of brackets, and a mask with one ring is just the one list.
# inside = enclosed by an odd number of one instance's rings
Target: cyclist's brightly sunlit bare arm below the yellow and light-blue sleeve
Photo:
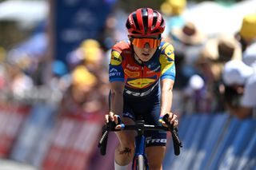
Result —
[[166, 78], [161, 81], [161, 111], [160, 117], [170, 113], [173, 100], [174, 80]]

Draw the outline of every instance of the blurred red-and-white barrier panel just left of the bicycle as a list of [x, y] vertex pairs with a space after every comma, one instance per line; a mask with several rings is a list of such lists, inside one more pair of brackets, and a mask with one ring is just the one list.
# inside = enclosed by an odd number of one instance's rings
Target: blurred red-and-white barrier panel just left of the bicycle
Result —
[[42, 167], [47, 170], [87, 169], [102, 125], [102, 114], [98, 113], [90, 117], [61, 117], [52, 134], [52, 143]]

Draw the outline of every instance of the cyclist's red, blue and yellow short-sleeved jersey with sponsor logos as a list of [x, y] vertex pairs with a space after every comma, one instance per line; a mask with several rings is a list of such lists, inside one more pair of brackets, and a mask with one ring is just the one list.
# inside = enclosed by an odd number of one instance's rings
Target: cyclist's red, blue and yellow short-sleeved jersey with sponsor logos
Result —
[[133, 55], [130, 42], [118, 42], [111, 51], [109, 79], [125, 83], [125, 96], [146, 97], [159, 88], [159, 80], [174, 80], [174, 47], [170, 43], [161, 42], [153, 57], [142, 64]]

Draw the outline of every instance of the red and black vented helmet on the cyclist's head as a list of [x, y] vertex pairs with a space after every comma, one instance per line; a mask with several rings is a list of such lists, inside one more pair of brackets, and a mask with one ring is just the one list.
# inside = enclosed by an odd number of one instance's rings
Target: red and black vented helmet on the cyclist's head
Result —
[[140, 8], [132, 12], [126, 21], [126, 28], [130, 36], [159, 35], [162, 34], [165, 27], [162, 14], [151, 8]]

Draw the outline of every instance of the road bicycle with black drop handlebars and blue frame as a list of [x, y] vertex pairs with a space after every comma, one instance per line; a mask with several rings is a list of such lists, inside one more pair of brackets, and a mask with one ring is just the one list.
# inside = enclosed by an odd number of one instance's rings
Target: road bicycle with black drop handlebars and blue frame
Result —
[[[148, 160], [146, 158], [145, 152], [145, 142], [146, 137], [144, 136], [144, 131], [153, 130], [153, 131], [170, 131], [174, 144], [174, 154], [178, 156], [180, 154], [180, 148], [182, 147], [182, 142], [178, 137], [178, 128], [174, 128], [172, 124], [168, 121], [168, 114], [163, 117], [163, 121], [166, 122], [168, 128], [164, 126], [156, 125], [145, 125], [142, 119], [135, 121], [134, 125], [123, 125], [121, 129], [115, 129], [116, 124], [114, 121], [110, 121], [107, 125], [102, 127], [102, 137], [99, 140], [98, 148], [102, 156], [106, 155], [106, 144], [109, 132], [116, 132], [122, 130], [135, 130], [137, 131], [137, 136], [135, 136], [135, 152], [134, 158], [132, 161], [132, 170], [149, 170]], [[118, 124], [122, 123], [119, 119]]]

